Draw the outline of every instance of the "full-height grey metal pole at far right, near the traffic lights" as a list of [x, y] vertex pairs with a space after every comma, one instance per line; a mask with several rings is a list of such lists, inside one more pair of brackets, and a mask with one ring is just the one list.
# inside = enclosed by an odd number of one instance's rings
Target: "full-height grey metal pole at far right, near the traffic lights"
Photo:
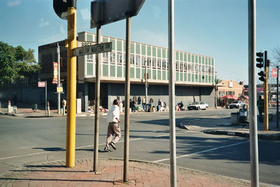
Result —
[[255, 0], [248, 0], [248, 80], [251, 186], [259, 186], [258, 175], [258, 120], [255, 82]]

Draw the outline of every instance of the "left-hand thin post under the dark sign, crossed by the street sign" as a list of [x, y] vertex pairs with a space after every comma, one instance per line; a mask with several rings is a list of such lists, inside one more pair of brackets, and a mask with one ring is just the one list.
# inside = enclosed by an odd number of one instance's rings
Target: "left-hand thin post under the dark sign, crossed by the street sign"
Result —
[[[97, 43], [101, 43], [101, 26], [97, 25]], [[95, 68], [95, 118], [94, 118], [94, 155], [93, 155], [93, 172], [98, 169], [98, 144], [99, 144], [99, 104], [100, 104], [100, 53], [96, 55]]]

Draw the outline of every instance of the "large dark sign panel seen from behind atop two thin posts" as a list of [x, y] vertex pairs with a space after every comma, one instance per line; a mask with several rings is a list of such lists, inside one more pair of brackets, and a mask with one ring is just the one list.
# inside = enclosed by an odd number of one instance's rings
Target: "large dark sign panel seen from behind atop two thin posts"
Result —
[[[127, 14], [130, 17], [137, 15], [145, 0], [94, 0], [91, 2], [90, 28], [106, 25], [111, 22], [123, 20]], [[99, 17], [98, 13], [99, 11]]]

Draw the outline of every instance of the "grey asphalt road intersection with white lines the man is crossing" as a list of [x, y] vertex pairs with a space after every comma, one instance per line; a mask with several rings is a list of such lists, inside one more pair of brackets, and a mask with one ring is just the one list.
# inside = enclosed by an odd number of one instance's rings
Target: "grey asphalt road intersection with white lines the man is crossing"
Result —
[[[176, 123], [188, 118], [224, 118], [234, 110], [176, 112]], [[123, 119], [124, 116], [121, 116]], [[93, 158], [94, 117], [76, 118], [76, 159]], [[123, 121], [120, 123], [122, 134]], [[123, 158], [118, 150], [106, 153], [106, 116], [100, 118], [99, 158]], [[0, 175], [22, 165], [65, 160], [66, 118], [0, 116]], [[260, 182], [280, 185], [280, 141], [260, 140]], [[250, 179], [249, 141], [246, 138], [190, 132], [176, 128], [177, 165], [204, 172]], [[130, 115], [130, 159], [169, 163], [169, 113]]]

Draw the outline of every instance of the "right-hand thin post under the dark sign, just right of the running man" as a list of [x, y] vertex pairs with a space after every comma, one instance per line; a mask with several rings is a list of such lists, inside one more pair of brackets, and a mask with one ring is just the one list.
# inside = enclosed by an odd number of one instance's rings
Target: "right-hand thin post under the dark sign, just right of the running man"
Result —
[[126, 26], [126, 56], [125, 56], [125, 149], [123, 158], [123, 181], [128, 181], [128, 162], [129, 162], [129, 147], [130, 147], [130, 29], [131, 17], [127, 15]]

